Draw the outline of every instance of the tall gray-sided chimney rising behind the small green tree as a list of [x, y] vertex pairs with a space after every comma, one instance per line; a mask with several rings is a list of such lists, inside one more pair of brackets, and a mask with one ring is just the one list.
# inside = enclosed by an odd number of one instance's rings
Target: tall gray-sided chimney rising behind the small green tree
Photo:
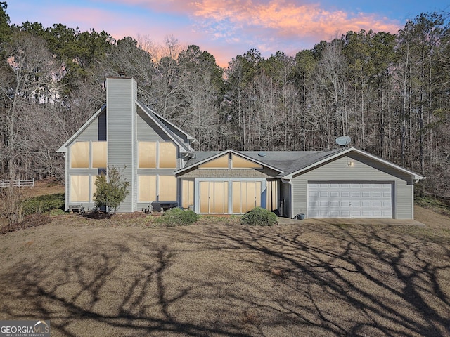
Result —
[[122, 170], [123, 178], [130, 183], [130, 194], [120, 204], [119, 212], [132, 212], [136, 203], [134, 165], [136, 156], [135, 118], [136, 81], [134, 79], [107, 79], [108, 165]]

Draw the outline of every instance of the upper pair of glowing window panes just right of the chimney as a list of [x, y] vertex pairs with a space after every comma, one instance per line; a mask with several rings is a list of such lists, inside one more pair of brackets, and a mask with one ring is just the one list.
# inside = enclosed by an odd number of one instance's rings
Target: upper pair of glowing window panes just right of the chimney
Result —
[[172, 142], [139, 142], [139, 169], [176, 169], [176, 159]]

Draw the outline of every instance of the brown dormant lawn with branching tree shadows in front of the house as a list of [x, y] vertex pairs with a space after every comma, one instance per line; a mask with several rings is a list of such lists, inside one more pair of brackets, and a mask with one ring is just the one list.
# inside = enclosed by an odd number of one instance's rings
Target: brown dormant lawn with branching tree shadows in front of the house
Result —
[[450, 221], [57, 216], [0, 236], [0, 319], [51, 336], [450, 336]]

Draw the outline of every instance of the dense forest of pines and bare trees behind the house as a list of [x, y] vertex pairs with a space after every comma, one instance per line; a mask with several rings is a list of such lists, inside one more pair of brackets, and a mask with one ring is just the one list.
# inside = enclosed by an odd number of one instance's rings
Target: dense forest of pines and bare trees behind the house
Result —
[[0, 2], [0, 179], [63, 180], [56, 150], [105, 103], [105, 78], [125, 75], [197, 150], [329, 150], [350, 136], [426, 176], [420, 194], [450, 197], [448, 19], [420, 13], [397, 34], [347, 32], [268, 58], [250, 49], [219, 67], [172, 36], [11, 25]]

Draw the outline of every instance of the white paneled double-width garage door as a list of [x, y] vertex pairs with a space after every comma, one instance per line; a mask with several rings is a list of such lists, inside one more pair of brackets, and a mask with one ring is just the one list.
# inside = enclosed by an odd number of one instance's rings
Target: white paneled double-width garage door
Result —
[[392, 183], [310, 182], [309, 218], [392, 218]]

